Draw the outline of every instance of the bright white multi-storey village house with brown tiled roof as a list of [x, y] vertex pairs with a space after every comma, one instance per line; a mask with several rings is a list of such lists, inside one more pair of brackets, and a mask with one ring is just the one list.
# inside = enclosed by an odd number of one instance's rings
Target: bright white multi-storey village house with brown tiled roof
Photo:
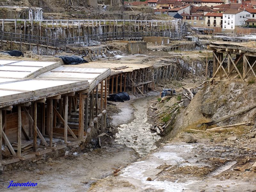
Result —
[[251, 13], [244, 9], [229, 9], [223, 12], [223, 29], [234, 29], [235, 26], [245, 25], [245, 20], [248, 20]]

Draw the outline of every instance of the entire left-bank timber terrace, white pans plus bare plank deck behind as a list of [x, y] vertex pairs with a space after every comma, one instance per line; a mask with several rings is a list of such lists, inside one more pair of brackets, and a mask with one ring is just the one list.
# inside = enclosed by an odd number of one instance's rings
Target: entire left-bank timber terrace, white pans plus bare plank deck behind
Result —
[[1, 60], [0, 69], [0, 148], [12, 154], [3, 160], [0, 153], [0, 166], [86, 145], [105, 132], [108, 94], [144, 96], [185, 71], [175, 60], [155, 57], [80, 65]]

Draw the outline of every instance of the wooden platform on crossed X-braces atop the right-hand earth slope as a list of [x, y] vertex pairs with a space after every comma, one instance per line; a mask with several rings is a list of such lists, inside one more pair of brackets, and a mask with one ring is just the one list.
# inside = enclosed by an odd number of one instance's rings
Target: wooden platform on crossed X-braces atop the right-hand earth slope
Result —
[[244, 82], [251, 74], [256, 78], [256, 49], [251, 43], [214, 42], [208, 49], [213, 51], [213, 80], [229, 81], [238, 77]]

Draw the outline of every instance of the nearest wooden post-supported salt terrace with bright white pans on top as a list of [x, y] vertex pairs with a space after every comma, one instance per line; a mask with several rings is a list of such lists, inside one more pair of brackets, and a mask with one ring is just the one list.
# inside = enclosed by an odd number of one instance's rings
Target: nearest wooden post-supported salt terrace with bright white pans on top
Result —
[[15, 60], [1, 60], [0, 69], [0, 148], [12, 154], [2, 160], [0, 153], [0, 166], [86, 143], [105, 131], [110, 69]]

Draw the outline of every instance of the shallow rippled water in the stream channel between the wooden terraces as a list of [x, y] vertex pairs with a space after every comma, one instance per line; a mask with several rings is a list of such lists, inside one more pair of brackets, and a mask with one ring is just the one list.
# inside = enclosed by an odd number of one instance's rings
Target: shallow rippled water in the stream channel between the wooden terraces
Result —
[[154, 143], [160, 139], [160, 136], [150, 132], [150, 124], [147, 123], [147, 101], [135, 100], [133, 104], [136, 109], [133, 114], [134, 120], [118, 127], [116, 142], [132, 147], [140, 156], [145, 156], [156, 148]]

